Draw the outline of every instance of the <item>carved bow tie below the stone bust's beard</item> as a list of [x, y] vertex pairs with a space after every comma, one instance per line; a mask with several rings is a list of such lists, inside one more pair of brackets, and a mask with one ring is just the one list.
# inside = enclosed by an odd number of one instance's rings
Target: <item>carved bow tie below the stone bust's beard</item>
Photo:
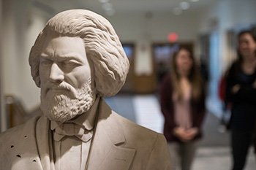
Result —
[[87, 131], [83, 126], [75, 123], [63, 123], [53, 131], [53, 139], [59, 142], [64, 136], [76, 136], [83, 142], [88, 142], [93, 135], [93, 130]]

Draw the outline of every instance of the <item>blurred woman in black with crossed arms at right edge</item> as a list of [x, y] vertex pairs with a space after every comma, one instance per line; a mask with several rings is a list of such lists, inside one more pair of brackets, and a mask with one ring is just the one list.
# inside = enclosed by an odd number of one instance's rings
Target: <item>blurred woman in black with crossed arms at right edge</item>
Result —
[[250, 31], [238, 34], [238, 59], [227, 76], [226, 103], [232, 104], [233, 170], [244, 169], [256, 115], [256, 38]]

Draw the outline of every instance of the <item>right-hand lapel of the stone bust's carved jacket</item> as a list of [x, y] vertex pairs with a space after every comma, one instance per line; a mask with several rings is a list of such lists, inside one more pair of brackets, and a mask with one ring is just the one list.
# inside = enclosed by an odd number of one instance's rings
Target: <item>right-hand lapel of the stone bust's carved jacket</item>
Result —
[[135, 149], [118, 147], [124, 143], [124, 133], [116, 113], [101, 99], [87, 170], [129, 169]]

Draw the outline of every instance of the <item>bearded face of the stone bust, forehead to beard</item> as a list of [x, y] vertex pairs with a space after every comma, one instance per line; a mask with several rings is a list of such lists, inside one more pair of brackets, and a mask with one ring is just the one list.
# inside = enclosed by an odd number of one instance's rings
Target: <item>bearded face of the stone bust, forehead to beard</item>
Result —
[[58, 36], [46, 39], [39, 63], [41, 109], [64, 122], [86, 112], [94, 103], [91, 67], [83, 39]]

